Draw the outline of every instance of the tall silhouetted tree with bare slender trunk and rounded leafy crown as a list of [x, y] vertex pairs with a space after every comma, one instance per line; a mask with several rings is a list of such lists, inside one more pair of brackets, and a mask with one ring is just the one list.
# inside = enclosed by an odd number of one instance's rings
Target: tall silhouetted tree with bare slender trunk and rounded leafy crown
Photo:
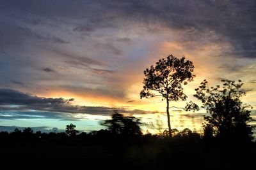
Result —
[[166, 59], [160, 59], [156, 62], [156, 66], [144, 71], [143, 90], [140, 97], [163, 97], [166, 100], [166, 113], [169, 129], [169, 136], [172, 136], [170, 124], [170, 101], [186, 101], [186, 94], [183, 92], [182, 85], [187, 85], [195, 77], [193, 74], [193, 62], [185, 60], [185, 57], [177, 59], [173, 55], [169, 55]]

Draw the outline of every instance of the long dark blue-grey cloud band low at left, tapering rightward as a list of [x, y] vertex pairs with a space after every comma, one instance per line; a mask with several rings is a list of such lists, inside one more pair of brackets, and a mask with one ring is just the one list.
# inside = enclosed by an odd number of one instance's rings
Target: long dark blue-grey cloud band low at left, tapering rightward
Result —
[[[0, 89], [0, 119], [56, 118], [79, 120], [76, 113], [90, 115], [112, 115], [115, 111], [125, 114], [158, 113], [157, 111], [127, 110], [101, 106], [72, 105], [74, 99], [44, 98], [31, 96], [12, 89]], [[34, 110], [34, 111], [31, 111]]]

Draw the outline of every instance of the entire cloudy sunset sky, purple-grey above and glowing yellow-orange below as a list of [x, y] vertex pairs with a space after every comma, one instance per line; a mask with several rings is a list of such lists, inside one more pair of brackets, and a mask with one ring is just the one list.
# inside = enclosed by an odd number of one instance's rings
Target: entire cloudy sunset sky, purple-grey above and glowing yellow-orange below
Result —
[[[255, 8], [254, 0], [2, 0], [0, 130], [93, 131], [114, 111], [166, 128], [164, 101], [140, 91], [143, 71], [170, 54], [193, 61], [189, 100], [204, 79], [242, 80], [243, 102], [255, 109]], [[198, 129], [205, 111], [171, 115], [172, 127]]]

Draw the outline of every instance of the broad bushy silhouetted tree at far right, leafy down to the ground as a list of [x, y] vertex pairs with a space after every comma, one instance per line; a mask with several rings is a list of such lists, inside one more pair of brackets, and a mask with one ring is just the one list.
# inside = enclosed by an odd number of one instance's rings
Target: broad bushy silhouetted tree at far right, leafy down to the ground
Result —
[[252, 120], [250, 117], [249, 105], [244, 105], [241, 97], [246, 95], [241, 89], [243, 83], [239, 80], [221, 80], [222, 87], [209, 87], [208, 82], [204, 80], [201, 85], [195, 89], [194, 95], [202, 101], [202, 108], [207, 110], [209, 116], [205, 116], [204, 124], [205, 137], [218, 136], [221, 139], [251, 140], [252, 125], [246, 123]]

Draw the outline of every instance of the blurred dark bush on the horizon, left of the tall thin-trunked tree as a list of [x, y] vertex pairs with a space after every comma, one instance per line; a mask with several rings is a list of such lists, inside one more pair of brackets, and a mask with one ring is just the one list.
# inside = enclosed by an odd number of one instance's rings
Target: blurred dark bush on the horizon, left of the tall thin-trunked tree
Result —
[[110, 120], [105, 120], [102, 125], [108, 127], [112, 134], [126, 136], [141, 135], [140, 119], [135, 117], [124, 117], [120, 113], [114, 113]]

